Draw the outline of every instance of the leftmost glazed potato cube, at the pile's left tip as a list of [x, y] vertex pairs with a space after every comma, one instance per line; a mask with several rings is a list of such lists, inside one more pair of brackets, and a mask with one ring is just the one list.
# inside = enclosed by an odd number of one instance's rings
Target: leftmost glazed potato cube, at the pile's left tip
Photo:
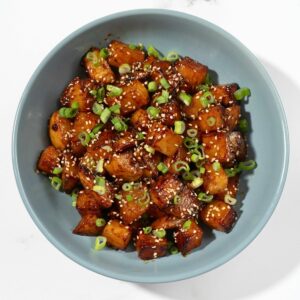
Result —
[[43, 150], [37, 163], [40, 172], [51, 175], [54, 168], [60, 166], [61, 152], [53, 146], [48, 146]]

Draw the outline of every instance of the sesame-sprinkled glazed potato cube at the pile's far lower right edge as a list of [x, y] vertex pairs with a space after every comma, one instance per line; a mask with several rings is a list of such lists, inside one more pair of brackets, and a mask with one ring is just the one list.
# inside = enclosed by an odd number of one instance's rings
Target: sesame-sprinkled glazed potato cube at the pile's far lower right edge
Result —
[[212, 229], [229, 232], [237, 220], [237, 214], [229, 204], [214, 200], [201, 211], [200, 218]]

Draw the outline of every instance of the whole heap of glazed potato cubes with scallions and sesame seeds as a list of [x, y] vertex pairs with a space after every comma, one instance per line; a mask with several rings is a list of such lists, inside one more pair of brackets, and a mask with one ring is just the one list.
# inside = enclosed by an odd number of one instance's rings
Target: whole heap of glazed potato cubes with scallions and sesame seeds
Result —
[[203, 226], [230, 232], [247, 120], [237, 84], [213, 83], [207, 66], [153, 46], [113, 40], [82, 58], [87, 77], [63, 91], [38, 171], [71, 194], [73, 233], [149, 260], [201, 245]]

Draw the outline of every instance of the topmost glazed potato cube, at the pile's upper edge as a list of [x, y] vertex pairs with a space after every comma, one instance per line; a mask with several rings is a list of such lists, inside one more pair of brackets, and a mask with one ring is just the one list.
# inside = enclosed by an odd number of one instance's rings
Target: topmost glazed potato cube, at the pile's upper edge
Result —
[[131, 49], [127, 44], [120, 41], [111, 41], [108, 45], [108, 63], [119, 67], [122, 64], [132, 65], [135, 62], [143, 62], [145, 53], [139, 49]]

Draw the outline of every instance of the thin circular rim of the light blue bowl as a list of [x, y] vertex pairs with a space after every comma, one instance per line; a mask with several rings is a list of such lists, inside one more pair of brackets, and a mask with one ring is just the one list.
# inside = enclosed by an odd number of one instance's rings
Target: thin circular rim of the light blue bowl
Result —
[[[251, 62], [255, 65], [257, 69], [260, 70], [261, 75], [264, 77], [268, 85], [273, 89], [274, 93], [274, 103], [278, 108], [279, 114], [280, 114], [280, 120], [281, 120], [281, 128], [283, 129], [283, 150], [284, 150], [284, 155], [283, 155], [283, 170], [280, 174], [279, 178], [279, 185], [274, 191], [274, 197], [273, 201], [270, 203], [270, 206], [268, 207], [268, 210], [265, 212], [264, 218], [262, 218], [259, 223], [257, 223], [255, 230], [251, 232], [249, 236], [247, 236], [243, 242], [238, 245], [237, 247], [233, 248], [230, 253], [227, 255], [223, 255], [220, 259], [214, 261], [211, 263], [208, 267], [205, 269], [194, 269], [190, 270], [188, 273], [178, 273], [178, 274], [173, 274], [172, 276], [166, 276], [165, 278], [159, 278], [159, 280], [156, 279], [156, 277], [148, 277], [148, 278], [143, 278], [142, 276], [138, 275], [132, 275], [132, 274], [117, 274], [110, 272], [109, 270], [106, 269], [101, 269], [97, 265], [93, 265], [91, 263], [88, 263], [84, 260], [81, 260], [80, 258], [77, 257], [76, 254], [74, 254], [72, 251], [69, 251], [63, 244], [58, 242], [54, 236], [52, 236], [47, 228], [43, 225], [43, 223], [39, 220], [39, 217], [36, 215], [34, 209], [31, 207], [30, 202], [26, 196], [22, 180], [20, 177], [20, 172], [19, 172], [19, 165], [18, 165], [18, 157], [17, 157], [17, 135], [18, 135], [18, 129], [19, 129], [19, 123], [20, 123], [20, 117], [22, 114], [23, 107], [25, 105], [25, 99], [27, 98], [27, 94], [32, 86], [32, 84], [35, 82], [37, 79], [37, 76], [40, 72], [40, 70], [48, 63], [50, 58], [60, 49], [62, 48], [65, 44], [67, 44], [69, 41], [71, 41], [74, 37], [77, 35], [81, 34], [84, 31], [87, 31], [88, 29], [91, 29], [95, 27], [96, 25], [100, 25], [102, 23], [105, 23], [107, 21], [115, 20], [121, 17], [130, 17], [130, 16], [137, 16], [137, 15], [160, 15], [160, 16], [171, 16], [171, 17], [179, 17], [183, 19], [188, 19], [192, 20], [198, 24], [201, 24], [210, 30], [215, 31], [218, 34], [221, 34], [225, 38], [229, 39], [231, 43], [235, 45], [235, 47], [238, 48], [239, 51], [243, 52], [246, 54], [246, 56], [251, 60]], [[31, 216], [33, 222], [35, 225], [38, 227], [38, 229], [43, 233], [43, 235], [48, 239], [49, 242], [51, 242], [60, 252], [65, 254], [68, 258], [73, 260], [74, 262], [78, 263], [82, 267], [85, 267], [95, 273], [118, 279], [118, 280], [123, 280], [123, 281], [128, 281], [128, 282], [137, 282], [137, 283], [165, 283], [165, 282], [173, 282], [173, 281], [178, 281], [178, 280], [184, 280], [188, 278], [192, 278], [201, 274], [204, 274], [212, 269], [215, 269], [232, 258], [236, 257], [243, 249], [245, 249], [256, 237], [257, 235], [262, 231], [268, 220], [270, 219], [271, 215], [273, 214], [278, 201], [280, 199], [280, 196], [282, 194], [284, 184], [286, 181], [287, 177], [287, 172], [288, 172], [288, 165], [289, 165], [289, 153], [290, 153], [290, 148], [289, 148], [289, 133], [288, 133], [288, 124], [287, 124], [287, 119], [286, 115], [284, 112], [283, 104], [281, 102], [280, 96], [277, 92], [277, 89], [267, 73], [266, 69], [262, 65], [262, 63], [256, 58], [256, 56], [246, 47], [244, 46], [237, 38], [235, 38], [233, 35], [228, 33], [227, 31], [223, 30], [221, 27], [204, 20], [200, 17], [190, 15], [188, 13], [183, 13], [175, 10], [169, 10], [169, 9], [135, 9], [135, 10], [126, 10], [126, 11], [121, 11], [113, 14], [106, 15], [104, 17], [98, 18], [92, 22], [89, 22], [80, 28], [76, 29], [73, 31], [71, 34], [69, 34], [67, 37], [62, 39], [46, 56], [45, 58], [39, 63], [38, 67], [35, 69], [33, 72], [30, 80], [28, 81], [20, 102], [17, 107], [15, 119], [14, 119], [14, 124], [13, 124], [13, 131], [12, 131], [12, 163], [13, 163], [13, 170], [14, 170], [14, 175], [15, 175], [15, 180], [17, 183], [17, 187], [20, 193], [20, 196], [23, 200], [23, 203]]]

